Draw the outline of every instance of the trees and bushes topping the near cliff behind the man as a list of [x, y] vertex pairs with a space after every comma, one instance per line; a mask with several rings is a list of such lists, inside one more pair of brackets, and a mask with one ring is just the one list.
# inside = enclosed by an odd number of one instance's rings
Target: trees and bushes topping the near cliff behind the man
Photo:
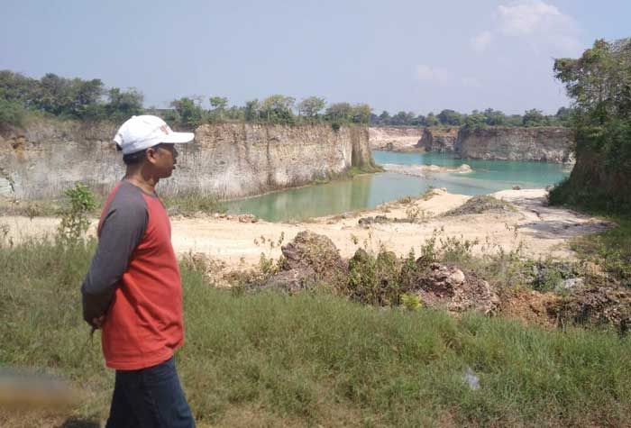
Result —
[[[61, 118], [109, 120], [121, 122], [133, 114], [142, 114], [142, 93], [130, 88], [106, 88], [100, 79], [59, 77], [49, 73], [41, 79], [25, 77], [10, 70], [0, 70], [0, 125], [23, 125], [31, 112], [44, 112]], [[334, 128], [349, 123], [369, 123], [370, 105], [334, 103], [309, 96], [299, 103], [296, 98], [272, 95], [245, 105], [228, 105], [223, 96], [209, 98], [206, 109], [201, 97], [182, 97], [171, 102], [170, 109], [146, 110], [163, 116], [183, 128], [202, 123], [224, 121], [280, 124], [331, 123]]]

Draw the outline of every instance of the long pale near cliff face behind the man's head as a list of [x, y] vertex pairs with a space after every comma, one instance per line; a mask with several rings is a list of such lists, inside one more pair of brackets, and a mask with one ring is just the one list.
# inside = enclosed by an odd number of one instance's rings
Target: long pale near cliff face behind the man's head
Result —
[[[103, 192], [123, 177], [111, 142], [116, 126], [42, 121], [0, 135], [0, 195], [59, 196], [82, 181]], [[178, 167], [160, 193], [201, 191], [221, 198], [300, 186], [372, 164], [368, 130], [329, 125], [203, 125], [178, 146]]]

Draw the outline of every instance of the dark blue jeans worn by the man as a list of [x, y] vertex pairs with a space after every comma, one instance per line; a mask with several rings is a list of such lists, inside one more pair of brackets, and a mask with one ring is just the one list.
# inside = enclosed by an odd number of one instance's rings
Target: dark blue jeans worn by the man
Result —
[[194, 427], [171, 357], [157, 366], [116, 370], [116, 383], [106, 428]]

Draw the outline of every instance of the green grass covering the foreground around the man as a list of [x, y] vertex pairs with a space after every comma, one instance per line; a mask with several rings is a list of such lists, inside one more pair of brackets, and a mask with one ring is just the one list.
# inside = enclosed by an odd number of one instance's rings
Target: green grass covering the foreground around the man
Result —
[[[80, 314], [94, 245], [0, 245], [0, 364], [69, 378], [83, 391], [78, 420], [105, 418], [113, 387]], [[631, 426], [631, 339], [613, 332], [235, 296], [186, 264], [182, 277], [178, 370], [199, 426]]]

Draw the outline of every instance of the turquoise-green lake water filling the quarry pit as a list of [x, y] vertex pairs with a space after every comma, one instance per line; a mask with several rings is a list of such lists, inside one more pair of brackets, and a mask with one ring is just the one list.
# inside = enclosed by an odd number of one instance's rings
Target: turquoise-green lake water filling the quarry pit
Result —
[[231, 214], [254, 214], [270, 222], [301, 220], [329, 214], [374, 208], [403, 196], [418, 196], [429, 187], [445, 187], [461, 195], [484, 195], [513, 186], [542, 188], [570, 174], [562, 164], [504, 160], [454, 159], [437, 153], [373, 151], [375, 162], [398, 165], [469, 165], [470, 173], [427, 173], [413, 177], [394, 172], [361, 175], [326, 184], [290, 188], [262, 196], [226, 201]]

